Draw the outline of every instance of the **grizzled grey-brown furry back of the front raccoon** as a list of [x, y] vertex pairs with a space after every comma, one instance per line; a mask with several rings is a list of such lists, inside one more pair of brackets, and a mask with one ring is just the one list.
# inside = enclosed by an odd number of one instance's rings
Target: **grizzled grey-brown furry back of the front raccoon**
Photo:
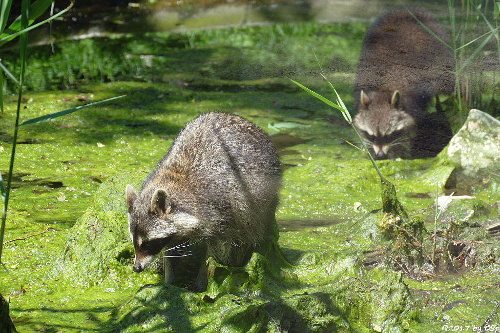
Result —
[[188, 123], [157, 169], [182, 175], [179, 194], [200, 200], [200, 214], [218, 212], [239, 220], [275, 206], [281, 179], [279, 156], [268, 136], [250, 121], [220, 112]]

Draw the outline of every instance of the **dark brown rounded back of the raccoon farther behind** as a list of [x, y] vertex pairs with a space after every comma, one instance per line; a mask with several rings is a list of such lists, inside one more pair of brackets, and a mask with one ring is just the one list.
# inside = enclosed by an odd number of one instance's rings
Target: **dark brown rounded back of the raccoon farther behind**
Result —
[[[423, 9], [410, 9], [442, 40], [443, 28]], [[452, 93], [454, 68], [450, 50], [405, 9], [382, 15], [368, 29], [356, 72], [355, 96], [364, 90], [400, 90], [402, 95]]]

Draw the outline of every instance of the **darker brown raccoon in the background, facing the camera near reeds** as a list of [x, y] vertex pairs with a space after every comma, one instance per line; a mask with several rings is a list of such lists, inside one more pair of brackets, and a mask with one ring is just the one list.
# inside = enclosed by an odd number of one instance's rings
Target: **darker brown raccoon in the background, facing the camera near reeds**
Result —
[[[410, 11], [445, 42], [443, 28], [423, 9]], [[354, 126], [377, 159], [434, 156], [451, 138], [439, 105], [439, 127], [429, 127], [426, 108], [438, 94], [452, 94], [450, 50], [405, 8], [388, 11], [366, 33], [354, 84]], [[438, 143], [438, 144], [436, 144]]]

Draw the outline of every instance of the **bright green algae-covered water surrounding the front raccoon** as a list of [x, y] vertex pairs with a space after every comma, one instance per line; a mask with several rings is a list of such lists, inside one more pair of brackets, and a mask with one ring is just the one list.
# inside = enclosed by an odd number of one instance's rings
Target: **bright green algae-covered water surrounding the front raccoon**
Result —
[[[0, 273], [0, 293], [10, 299], [17, 330], [472, 332], [500, 327], [500, 241], [485, 230], [500, 219], [498, 179], [458, 189], [475, 199], [438, 221], [439, 270], [391, 261], [402, 243], [383, 236], [380, 221], [387, 217], [381, 212], [379, 178], [369, 160], [343, 141], [355, 142], [350, 127], [283, 77], [328, 95], [316, 74], [314, 47], [352, 109], [353, 73], [367, 26], [298, 23], [130, 34], [62, 42], [54, 55], [48, 46], [31, 48], [26, 84], [58, 90], [25, 93], [23, 120], [127, 96], [19, 129], [2, 253], [8, 273]], [[13, 57], [3, 58], [14, 64]], [[15, 101], [13, 95], [5, 97], [0, 119], [2, 175], [10, 158]], [[175, 286], [164, 285], [154, 270], [132, 271], [123, 195], [125, 184], [140, 186], [187, 121], [209, 110], [255, 122], [278, 148], [282, 253], [254, 254], [243, 268], [211, 261], [214, 275], [207, 292], [194, 293], [189, 259]], [[408, 214], [425, 221], [428, 233], [417, 237], [426, 237], [423, 251], [431, 253], [436, 184], [439, 196], [457, 190], [444, 187], [453, 165], [445, 154], [378, 165]], [[412, 256], [418, 247], [408, 251]]]

